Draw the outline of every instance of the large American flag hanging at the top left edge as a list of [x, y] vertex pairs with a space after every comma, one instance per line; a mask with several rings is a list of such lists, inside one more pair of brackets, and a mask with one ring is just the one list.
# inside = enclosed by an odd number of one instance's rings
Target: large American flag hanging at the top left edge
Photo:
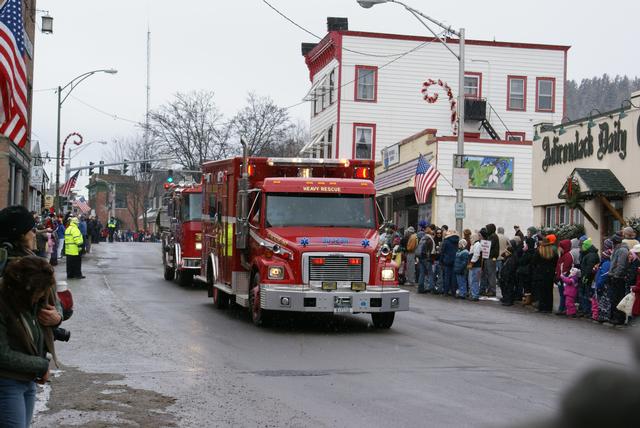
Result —
[[0, 133], [27, 144], [27, 68], [20, 0], [0, 1]]

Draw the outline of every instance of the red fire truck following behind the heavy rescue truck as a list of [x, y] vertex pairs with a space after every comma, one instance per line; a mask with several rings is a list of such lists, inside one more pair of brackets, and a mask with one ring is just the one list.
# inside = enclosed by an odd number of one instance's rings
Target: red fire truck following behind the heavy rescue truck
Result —
[[200, 272], [202, 257], [202, 185], [168, 185], [165, 201], [169, 228], [162, 232], [164, 279], [186, 287]]

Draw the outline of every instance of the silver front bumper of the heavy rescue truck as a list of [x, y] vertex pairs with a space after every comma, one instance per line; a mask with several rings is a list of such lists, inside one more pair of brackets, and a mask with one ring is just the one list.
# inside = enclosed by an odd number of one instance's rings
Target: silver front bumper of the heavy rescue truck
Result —
[[291, 312], [396, 312], [409, 310], [409, 292], [396, 287], [367, 287], [364, 291], [317, 290], [302, 286], [260, 286], [260, 306]]

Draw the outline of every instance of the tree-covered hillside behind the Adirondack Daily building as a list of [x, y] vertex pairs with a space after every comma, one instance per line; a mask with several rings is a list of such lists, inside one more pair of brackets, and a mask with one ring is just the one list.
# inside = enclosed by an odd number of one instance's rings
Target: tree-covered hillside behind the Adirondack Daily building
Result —
[[[576, 120], [589, 116], [589, 112], [598, 109], [601, 112], [619, 108], [622, 101], [629, 98], [633, 91], [640, 90], [640, 78], [607, 74], [602, 77], [567, 81], [567, 116]], [[627, 104], [628, 105], [628, 104]], [[595, 112], [594, 112], [595, 114]]]

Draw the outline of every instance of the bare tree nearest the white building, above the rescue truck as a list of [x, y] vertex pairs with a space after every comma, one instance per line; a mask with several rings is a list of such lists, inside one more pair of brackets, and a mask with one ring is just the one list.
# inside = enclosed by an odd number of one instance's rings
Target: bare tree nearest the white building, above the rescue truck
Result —
[[285, 140], [291, 128], [287, 109], [278, 107], [271, 98], [250, 92], [247, 106], [233, 118], [237, 135], [247, 143], [249, 156], [265, 156]]

